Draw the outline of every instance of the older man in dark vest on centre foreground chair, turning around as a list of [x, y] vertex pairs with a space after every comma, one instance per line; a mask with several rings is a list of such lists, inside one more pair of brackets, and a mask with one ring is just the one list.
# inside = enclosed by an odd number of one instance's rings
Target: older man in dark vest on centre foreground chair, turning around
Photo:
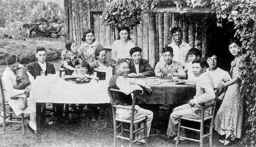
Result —
[[[120, 91], [124, 92], [125, 95], [123, 95], [123, 97], [118, 100], [114, 100], [114, 105], [125, 105], [128, 108], [131, 108], [132, 99], [131, 95], [129, 95], [131, 92], [133, 92], [134, 90], [143, 90], [142, 87], [149, 90], [150, 92], [152, 91], [151, 87], [147, 84], [146, 81], [128, 78], [128, 73], [130, 69], [125, 59], [120, 59], [117, 61], [115, 71], [116, 74], [114, 74], [114, 76], [112, 76], [109, 81], [109, 87], [113, 89], [120, 89]], [[147, 117], [147, 137], [149, 137], [151, 122], [153, 119], [153, 112], [140, 108], [138, 105], [135, 105], [135, 109], [136, 112], [134, 113], [134, 120], [145, 116]], [[131, 117], [131, 110], [125, 108], [117, 108], [116, 114], [117, 118], [128, 119]], [[134, 126], [135, 128], [137, 128], [138, 124]], [[144, 139], [139, 140], [139, 142], [144, 142]]]

